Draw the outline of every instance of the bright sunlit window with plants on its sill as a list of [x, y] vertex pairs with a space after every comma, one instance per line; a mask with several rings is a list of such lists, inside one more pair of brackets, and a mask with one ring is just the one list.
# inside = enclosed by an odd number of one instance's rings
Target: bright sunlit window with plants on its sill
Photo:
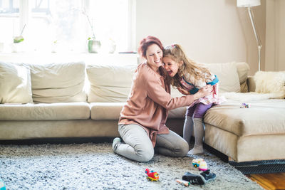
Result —
[[[108, 52], [132, 51], [135, 0], [0, 0], [0, 42], [23, 36], [26, 50], [88, 52], [88, 38]], [[94, 33], [94, 35], [93, 35]]]

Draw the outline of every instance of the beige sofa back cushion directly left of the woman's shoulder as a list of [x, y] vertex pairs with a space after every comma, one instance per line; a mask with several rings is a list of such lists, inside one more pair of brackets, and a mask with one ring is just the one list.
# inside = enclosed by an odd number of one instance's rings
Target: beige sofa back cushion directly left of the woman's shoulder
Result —
[[88, 102], [125, 102], [136, 65], [88, 65]]

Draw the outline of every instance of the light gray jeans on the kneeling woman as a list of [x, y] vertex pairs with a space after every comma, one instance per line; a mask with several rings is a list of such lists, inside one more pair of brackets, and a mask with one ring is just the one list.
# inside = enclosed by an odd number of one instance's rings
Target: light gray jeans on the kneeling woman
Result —
[[118, 130], [125, 143], [118, 144], [115, 153], [138, 162], [150, 161], [154, 152], [170, 157], [184, 157], [189, 151], [185, 139], [171, 130], [169, 134], [157, 134], [155, 149], [140, 125], [119, 125]]

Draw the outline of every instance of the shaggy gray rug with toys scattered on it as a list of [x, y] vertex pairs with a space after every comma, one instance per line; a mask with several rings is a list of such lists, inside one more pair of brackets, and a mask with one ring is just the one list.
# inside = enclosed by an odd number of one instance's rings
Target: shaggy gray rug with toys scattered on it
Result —
[[[110, 143], [0, 145], [0, 177], [7, 189], [262, 189], [212, 154], [205, 159], [217, 179], [202, 186], [177, 184], [197, 156], [172, 158], [155, 154], [138, 163], [114, 154]], [[147, 181], [145, 168], [160, 181]]]

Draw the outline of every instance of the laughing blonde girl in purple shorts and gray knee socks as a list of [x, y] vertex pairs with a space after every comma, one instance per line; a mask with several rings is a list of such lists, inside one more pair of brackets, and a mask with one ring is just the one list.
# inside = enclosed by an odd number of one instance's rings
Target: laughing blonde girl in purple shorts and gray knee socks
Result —
[[204, 152], [203, 116], [212, 105], [219, 105], [222, 102], [218, 97], [219, 80], [209, 69], [188, 59], [180, 45], [174, 44], [167, 46], [163, 54], [163, 65], [168, 75], [170, 75], [170, 83], [176, 87], [180, 93], [193, 95], [206, 85], [213, 86], [212, 94], [195, 100], [195, 102], [187, 108], [185, 116], [183, 138], [188, 144], [190, 144], [193, 125], [195, 132], [195, 145], [188, 154], [201, 154]]

